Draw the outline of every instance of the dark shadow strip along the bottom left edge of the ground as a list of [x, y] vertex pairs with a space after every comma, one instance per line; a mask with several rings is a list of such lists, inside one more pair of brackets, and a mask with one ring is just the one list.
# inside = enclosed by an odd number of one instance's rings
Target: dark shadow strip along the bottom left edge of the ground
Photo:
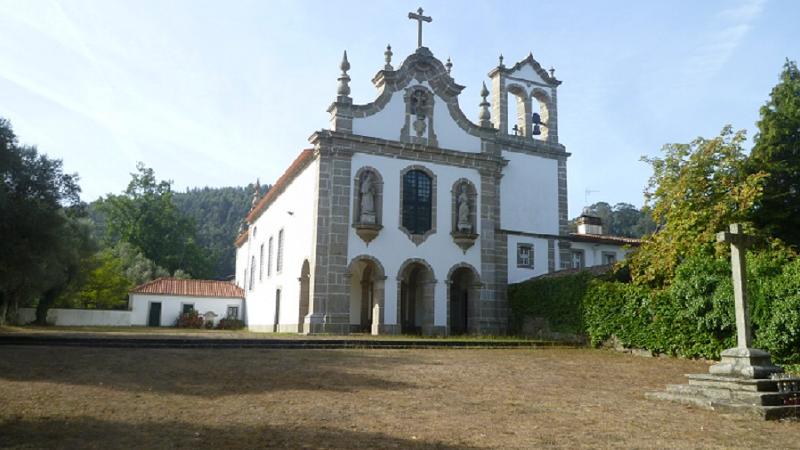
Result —
[[71, 420], [10, 420], [0, 423], [2, 448], [412, 448], [464, 449], [382, 433], [333, 428], [200, 427], [181, 422], [123, 423]]

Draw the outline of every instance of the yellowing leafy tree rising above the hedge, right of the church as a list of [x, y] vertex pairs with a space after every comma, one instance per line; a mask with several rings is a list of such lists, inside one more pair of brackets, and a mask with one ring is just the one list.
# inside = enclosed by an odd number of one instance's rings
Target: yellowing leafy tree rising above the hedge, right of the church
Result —
[[629, 260], [634, 282], [669, 284], [685, 258], [725, 251], [714, 245], [716, 233], [751, 216], [766, 178], [745, 170], [744, 141], [744, 131], [726, 126], [716, 138], [667, 144], [662, 158], [643, 158], [653, 168], [645, 201], [660, 228]]

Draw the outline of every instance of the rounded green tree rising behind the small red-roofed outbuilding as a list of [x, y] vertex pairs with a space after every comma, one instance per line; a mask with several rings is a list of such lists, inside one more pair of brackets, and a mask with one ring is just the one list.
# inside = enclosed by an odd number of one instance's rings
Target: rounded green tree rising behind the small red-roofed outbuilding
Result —
[[122, 195], [108, 195], [98, 204], [108, 242], [128, 242], [170, 272], [208, 277], [209, 262], [197, 244], [195, 224], [175, 206], [170, 182], [157, 181], [153, 169], [142, 163], [136, 169]]

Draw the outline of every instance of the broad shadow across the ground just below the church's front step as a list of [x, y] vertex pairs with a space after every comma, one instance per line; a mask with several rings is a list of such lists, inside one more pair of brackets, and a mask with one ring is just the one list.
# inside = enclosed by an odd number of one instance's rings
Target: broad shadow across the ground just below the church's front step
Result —
[[406, 355], [377, 357], [346, 350], [0, 348], [0, 380], [206, 398], [282, 390], [408, 389], [413, 385], [370, 372], [410, 364], [423, 363]]

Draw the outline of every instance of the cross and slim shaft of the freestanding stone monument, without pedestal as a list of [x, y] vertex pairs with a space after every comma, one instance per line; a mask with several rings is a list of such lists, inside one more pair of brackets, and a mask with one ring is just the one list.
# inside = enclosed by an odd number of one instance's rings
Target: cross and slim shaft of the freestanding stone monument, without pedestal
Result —
[[750, 315], [747, 311], [747, 270], [745, 254], [753, 243], [753, 237], [744, 234], [742, 225], [732, 223], [728, 231], [717, 233], [717, 242], [731, 244], [731, 271], [733, 276], [733, 299], [736, 308], [736, 343], [739, 348], [750, 348], [752, 336]]

